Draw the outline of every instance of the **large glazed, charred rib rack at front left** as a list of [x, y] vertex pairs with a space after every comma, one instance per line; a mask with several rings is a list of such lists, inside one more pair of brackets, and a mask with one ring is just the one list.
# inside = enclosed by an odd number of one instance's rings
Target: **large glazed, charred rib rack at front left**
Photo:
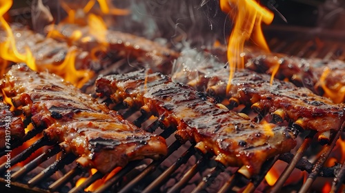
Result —
[[167, 152], [164, 138], [140, 130], [54, 74], [14, 65], [2, 88], [35, 128], [64, 143], [66, 150], [80, 156], [77, 162], [83, 166], [106, 173], [128, 161]]

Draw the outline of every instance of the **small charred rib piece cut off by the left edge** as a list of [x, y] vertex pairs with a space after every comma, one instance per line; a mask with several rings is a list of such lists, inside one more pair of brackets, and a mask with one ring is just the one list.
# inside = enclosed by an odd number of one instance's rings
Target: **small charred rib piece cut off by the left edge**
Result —
[[[3, 148], [10, 150], [10, 144], [14, 143], [14, 140], [21, 139], [25, 135], [25, 130], [21, 118], [14, 116], [2, 100], [0, 96], [0, 150]], [[6, 144], [8, 144], [7, 148]]]

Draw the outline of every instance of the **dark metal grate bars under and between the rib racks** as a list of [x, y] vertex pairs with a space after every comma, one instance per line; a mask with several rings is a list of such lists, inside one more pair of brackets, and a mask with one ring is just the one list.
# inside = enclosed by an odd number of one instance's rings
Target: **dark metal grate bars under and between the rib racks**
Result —
[[[284, 34], [286, 32], [283, 31], [282, 33]], [[343, 51], [345, 49], [345, 45], [342, 45], [339, 43], [339, 41], [324, 41], [315, 37], [303, 37], [300, 34], [297, 34], [295, 37], [291, 37], [291, 39], [282, 41], [279, 37], [272, 37], [268, 39], [268, 44], [270, 45], [270, 48], [272, 48], [273, 52], [284, 52], [286, 54], [296, 55], [298, 57], [345, 59], [345, 52]], [[119, 65], [119, 63], [116, 63], [116, 65]], [[202, 192], [204, 190], [209, 190], [207, 189], [209, 186], [212, 188], [216, 186], [215, 183], [217, 180], [215, 179], [217, 179], [221, 173], [224, 173], [226, 168], [224, 168], [222, 165], [216, 165], [213, 162], [213, 157], [210, 154], [202, 155], [201, 153], [197, 152], [197, 150], [194, 148], [194, 144], [182, 144], [179, 141], [176, 141], [173, 136], [170, 136], [176, 130], [176, 128], [164, 128], [164, 124], [161, 123], [159, 119], [152, 120], [150, 118], [150, 114], [138, 115], [139, 113], [136, 110], [126, 109], [124, 105], [121, 104], [115, 105], [114, 109], [119, 110], [125, 119], [132, 121], [135, 123], [135, 125], [139, 127], [146, 125], [142, 127], [145, 128], [146, 131], [161, 132], [160, 135], [167, 139], [167, 141], [170, 141], [168, 155], [158, 161], [150, 161], [149, 164], [144, 164], [147, 166], [141, 168], [139, 170], [139, 174], [135, 175], [135, 177], [122, 185], [124, 176], [129, 176], [130, 173], [135, 170], [135, 167], [143, 165], [143, 161], [132, 161], [126, 165], [126, 167], [119, 170], [119, 172], [117, 172], [114, 176], [110, 177], [106, 183], [103, 183], [101, 186], [99, 186], [95, 192], [132, 192], [142, 184], [144, 184], [144, 187], [141, 188], [140, 192], [157, 192], [162, 185], [165, 185], [172, 178], [172, 176], [178, 172], [177, 170], [179, 170], [181, 166], [186, 165], [191, 157], [195, 157], [197, 159], [196, 163], [190, 165], [190, 168], [186, 170], [183, 175], [181, 175], [181, 178], [179, 178], [178, 181], [174, 183], [172, 187], [170, 187], [170, 189], [168, 189], [168, 192], [179, 192], [184, 187], [188, 186], [190, 180], [200, 172], [204, 172], [204, 176], [201, 176], [202, 180], [195, 185], [192, 192]], [[31, 139], [39, 132], [41, 131], [32, 130], [32, 132], [28, 133], [24, 139]], [[271, 187], [270, 192], [279, 192], [295, 168], [306, 170], [308, 172], [308, 177], [303, 183], [302, 187], [300, 187], [299, 192], [308, 192], [308, 190], [311, 189], [315, 179], [317, 179], [317, 176], [334, 178], [332, 191], [337, 192], [341, 188], [344, 181], [345, 163], [342, 165], [335, 165], [335, 167], [331, 168], [323, 167], [323, 165], [328, 156], [331, 154], [331, 151], [335, 147], [335, 143], [341, 134], [342, 130], [334, 133], [331, 138], [331, 143], [322, 147], [322, 149], [319, 151], [319, 156], [317, 156], [313, 162], [310, 162], [302, 157], [306, 154], [306, 151], [313, 143], [314, 133], [310, 132], [304, 137], [300, 135], [300, 137], [303, 139], [303, 142], [295, 154], [282, 154], [275, 156], [264, 164], [262, 171], [257, 176], [252, 176], [250, 179], [246, 179], [246, 175], [242, 173], [241, 168], [233, 168], [230, 172], [230, 177], [226, 179], [224, 185], [216, 186], [217, 190], [215, 191], [254, 192], [257, 187], [259, 187], [260, 183], [262, 183], [270, 168], [273, 167], [277, 160], [282, 160], [288, 163], [288, 166], [285, 168], [282, 175], [279, 176], [279, 179], [275, 185]], [[12, 148], [17, 148], [20, 145], [21, 144], [18, 143], [16, 147], [13, 146]], [[30, 190], [32, 192], [56, 192], [61, 191], [62, 187], [70, 184], [72, 187], [70, 190], [65, 192], [83, 192], [86, 187], [104, 177], [104, 175], [100, 172], [96, 172], [95, 174], [88, 176], [89, 171], [86, 168], [75, 165], [74, 161], [77, 159], [77, 157], [74, 154], [66, 154], [63, 152], [63, 143], [52, 144], [44, 136], [30, 145], [29, 148], [21, 152], [21, 154], [18, 154], [12, 158], [12, 166], [26, 160], [30, 154], [44, 146], [48, 146], [48, 150], [12, 174], [12, 185], [17, 188], [21, 188], [22, 190]], [[183, 149], [182, 147], [184, 147], [185, 150], [178, 150]], [[173, 163], [169, 165], [166, 170], [161, 172], [161, 174], [159, 174], [157, 177], [152, 177], [154, 176], [154, 173], [157, 172], [157, 168], [160, 167], [162, 163], [166, 161], [166, 159], [170, 159], [170, 155], [175, 154], [176, 152], [180, 152], [181, 155], [177, 156], [177, 159], [172, 160]], [[4, 153], [0, 154], [0, 156], [4, 155]], [[41, 163], [48, 161], [52, 156], [56, 156], [58, 159], [56, 159], [48, 167], [45, 167], [46, 169], [41, 171], [39, 174], [30, 176], [30, 180], [28, 180], [27, 185], [24, 183], [19, 183], [21, 179], [23, 179], [25, 176], [28, 176], [32, 170], [39, 167]], [[44, 181], [52, 176], [52, 174], [55, 174], [57, 170], [61, 170], [64, 167], [70, 168], [66, 174], [48, 185], [46, 190], [39, 187], [39, 184], [44, 183]], [[0, 173], [5, 172], [5, 170], [6, 163], [3, 163], [0, 165]], [[326, 172], [326, 170], [329, 171]], [[81, 176], [88, 177], [79, 186], [75, 186], [76, 179], [79, 179]], [[148, 181], [148, 179], [152, 179], [152, 181]], [[4, 179], [0, 179], [0, 182], [5, 183]]]

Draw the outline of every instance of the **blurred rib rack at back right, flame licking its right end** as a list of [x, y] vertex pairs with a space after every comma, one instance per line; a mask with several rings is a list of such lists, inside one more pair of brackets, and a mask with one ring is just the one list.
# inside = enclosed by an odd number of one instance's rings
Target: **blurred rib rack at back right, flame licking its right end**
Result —
[[[210, 50], [226, 63], [226, 50]], [[345, 63], [340, 60], [303, 59], [286, 54], [267, 53], [255, 48], [246, 48], [242, 53], [246, 68], [255, 72], [273, 74], [275, 78], [288, 79], [299, 87], [306, 87], [315, 94], [326, 96], [335, 103], [345, 102]]]

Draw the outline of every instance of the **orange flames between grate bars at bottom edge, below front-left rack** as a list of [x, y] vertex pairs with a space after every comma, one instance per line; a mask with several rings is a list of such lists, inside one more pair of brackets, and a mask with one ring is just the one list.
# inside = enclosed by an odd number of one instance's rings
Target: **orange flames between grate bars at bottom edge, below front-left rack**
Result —
[[[106, 176], [104, 176], [102, 179], [99, 179], [97, 181], [95, 181], [94, 183], [92, 183], [91, 185], [89, 185], [88, 187], [86, 187], [84, 189], [85, 192], [94, 192], [95, 190], [97, 190], [98, 187], [100, 187], [101, 185], [103, 185], [104, 183], [106, 183], [106, 181], [108, 181], [109, 179], [112, 178], [112, 176], [114, 176], [115, 174], [117, 174], [117, 172], [119, 172], [122, 169], [122, 167], [116, 167], [114, 170], [112, 170], [109, 174], [107, 174]], [[97, 170], [95, 168], [92, 168], [90, 170], [90, 176], [95, 174], [97, 172]], [[87, 178], [80, 178], [78, 179], [77, 183], [75, 184], [76, 187], [78, 187], [79, 185], [81, 185], [84, 181], [86, 181]]]

